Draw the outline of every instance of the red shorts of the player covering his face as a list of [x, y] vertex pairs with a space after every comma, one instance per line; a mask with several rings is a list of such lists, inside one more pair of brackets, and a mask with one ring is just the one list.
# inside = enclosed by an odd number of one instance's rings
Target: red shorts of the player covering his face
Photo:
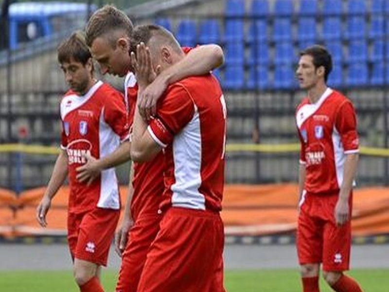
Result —
[[223, 248], [218, 213], [171, 207], [147, 254], [138, 292], [223, 292]]

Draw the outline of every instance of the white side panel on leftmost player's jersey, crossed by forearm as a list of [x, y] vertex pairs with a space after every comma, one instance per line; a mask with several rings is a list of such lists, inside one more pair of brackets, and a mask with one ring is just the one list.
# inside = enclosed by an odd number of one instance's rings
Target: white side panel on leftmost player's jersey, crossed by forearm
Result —
[[[104, 108], [101, 110], [99, 122], [100, 158], [112, 153], [120, 144], [120, 137], [104, 120]], [[101, 172], [100, 198], [97, 206], [100, 208], [120, 209], [119, 185], [115, 167]]]

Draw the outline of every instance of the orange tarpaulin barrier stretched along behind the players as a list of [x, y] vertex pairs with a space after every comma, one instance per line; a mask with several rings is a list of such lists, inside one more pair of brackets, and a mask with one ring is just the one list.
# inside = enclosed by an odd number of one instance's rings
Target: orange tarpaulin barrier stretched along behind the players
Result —
[[[62, 187], [53, 199], [47, 217], [48, 228], [41, 228], [35, 220], [35, 209], [44, 190], [44, 187], [28, 190], [17, 197], [0, 189], [0, 234], [65, 235], [69, 189]], [[120, 187], [122, 204], [126, 191], [126, 186]], [[225, 187], [221, 216], [229, 235], [293, 233], [296, 206], [297, 185], [294, 183], [231, 184]], [[353, 234], [358, 236], [389, 233], [389, 188], [356, 189], [352, 225]]]

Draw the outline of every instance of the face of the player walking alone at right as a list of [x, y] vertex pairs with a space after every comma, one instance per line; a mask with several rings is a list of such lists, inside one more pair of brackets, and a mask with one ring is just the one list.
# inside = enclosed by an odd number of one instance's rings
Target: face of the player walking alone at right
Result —
[[301, 56], [297, 66], [296, 76], [301, 89], [309, 90], [316, 86], [320, 76], [318, 75], [318, 69], [313, 64], [313, 57], [311, 55]]

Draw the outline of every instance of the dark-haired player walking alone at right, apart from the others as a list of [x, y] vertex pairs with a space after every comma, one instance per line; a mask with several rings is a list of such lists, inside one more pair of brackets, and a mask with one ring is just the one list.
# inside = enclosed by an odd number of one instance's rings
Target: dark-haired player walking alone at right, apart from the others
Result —
[[301, 141], [297, 252], [304, 292], [325, 281], [337, 292], [361, 292], [349, 269], [352, 187], [358, 161], [353, 104], [326, 85], [331, 55], [322, 46], [302, 51], [296, 71], [308, 95], [296, 111]]

